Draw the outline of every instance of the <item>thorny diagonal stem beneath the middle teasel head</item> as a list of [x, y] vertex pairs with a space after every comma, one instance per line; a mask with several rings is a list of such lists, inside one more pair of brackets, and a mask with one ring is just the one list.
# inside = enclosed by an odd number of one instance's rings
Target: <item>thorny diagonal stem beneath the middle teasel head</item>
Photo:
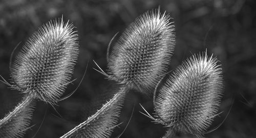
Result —
[[106, 102], [93, 116], [89, 117], [86, 121], [82, 122], [78, 126], [74, 127], [72, 130], [62, 135], [60, 138], [72, 137], [72, 134], [83, 128], [84, 126], [90, 124], [92, 121], [97, 119], [101, 114], [103, 114], [107, 109], [109, 109], [113, 104], [117, 103], [121, 97], [124, 97], [127, 92], [125, 86], [123, 86], [118, 93], [114, 95], [110, 101]]

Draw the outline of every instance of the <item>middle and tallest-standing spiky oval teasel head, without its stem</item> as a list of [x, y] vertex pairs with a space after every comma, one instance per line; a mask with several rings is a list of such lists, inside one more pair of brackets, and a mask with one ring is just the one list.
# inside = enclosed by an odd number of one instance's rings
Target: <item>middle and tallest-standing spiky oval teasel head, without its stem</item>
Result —
[[170, 17], [152, 10], [137, 17], [110, 53], [114, 79], [130, 89], [151, 90], [166, 73], [175, 46]]

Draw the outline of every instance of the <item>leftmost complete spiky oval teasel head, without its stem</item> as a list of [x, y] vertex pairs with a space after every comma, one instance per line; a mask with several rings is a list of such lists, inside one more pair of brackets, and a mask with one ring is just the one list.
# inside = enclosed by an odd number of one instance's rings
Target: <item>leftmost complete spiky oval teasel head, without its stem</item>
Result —
[[56, 100], [65, 91], [78, 57], [73, 24], [62, 18], [36, 31], [18, 52], [11, 70], [16, 87], [40, 100]]

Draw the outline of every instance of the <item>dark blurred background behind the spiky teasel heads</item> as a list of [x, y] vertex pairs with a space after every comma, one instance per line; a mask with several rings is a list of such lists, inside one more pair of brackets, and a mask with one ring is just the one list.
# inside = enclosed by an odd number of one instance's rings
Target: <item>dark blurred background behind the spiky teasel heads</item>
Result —
[[[70, 93], [86, 69], [85, 80], [78, 91], [53, 107], [38, 101], [31, 125], [25, 137], [59, 137], [86, 120], [114, 93], [114, 82], [92, 68], [95, 60], [106, 70], [106, 49], [111, 38], [135, 20], [137, 16], [161, 6], [174, 18], [176, 47], [172, 58], [175, 69], [191, 54], [204, 51], [214, 53], [221, 61], [225, 92], [219, 117], [214, 128], [228, 113], [225, 122], [206, 137], [254, 137], [256, 136], [256, 3], [244, 0], [184, 0], [184, 1], [1, 1], [0, 2], [0, 74], [9, 77], [9, 58], [13, 48], [24, 42], [39, 26], [61, 17], [73, 22], [79, 35], [80, 54], [73, 78], [65, 94]], [[21, 47], [21, 46], [20, 46]], [[17, 49], [18, 51], [19, 49]], [[15, 53], [17, 53], [17, 51]], [[14, 55], [15, 56], [15, 55]], [[0, 117], [12, 110], [22, 94], [0, 84]], [[154, 124], [139, 113], [141, 103], [149, 113], [154, 113], [152, 95], [130, 92], [125, 100], [119, 122], [112, 137], [124, 129], [135, 106], [132, 120], [121, 137], [161, 137], [166, 128]], [[44, 119], [45, 116], [45, 119]], [[44, 121], [43, 121], [44, 120]], [[42, 122], [42, 123], [41, 123]], [[39, 126], [41, 127], [39, 129]], [[181, 135], [180, 137], [189, 137]]]

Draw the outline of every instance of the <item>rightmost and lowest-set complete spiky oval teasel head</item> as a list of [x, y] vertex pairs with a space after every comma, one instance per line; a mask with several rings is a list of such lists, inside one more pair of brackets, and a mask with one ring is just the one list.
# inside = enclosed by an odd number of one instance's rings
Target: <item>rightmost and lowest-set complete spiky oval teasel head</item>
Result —
[[216, 58], [194, 55], [166, 80], [156, 99], [161, 122], [176, 131], [199, 134], [212, 123], [223, 91]]

